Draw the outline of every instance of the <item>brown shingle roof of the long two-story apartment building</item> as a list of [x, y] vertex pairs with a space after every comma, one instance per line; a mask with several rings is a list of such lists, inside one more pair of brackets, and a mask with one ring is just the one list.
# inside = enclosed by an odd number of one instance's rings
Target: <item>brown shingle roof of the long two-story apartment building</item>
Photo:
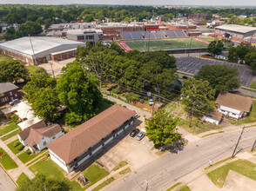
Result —
[[135, 115], [133, 111], [119, 105], [113, 105], [54, 142], [49, 143], [47, 148], [50, 148], [53, 153], [69, 163], [133, 115]]

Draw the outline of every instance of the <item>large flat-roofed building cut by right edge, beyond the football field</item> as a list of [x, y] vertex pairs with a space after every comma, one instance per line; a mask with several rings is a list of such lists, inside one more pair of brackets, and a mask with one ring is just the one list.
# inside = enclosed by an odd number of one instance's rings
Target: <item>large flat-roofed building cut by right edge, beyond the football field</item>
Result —
[[247, 27], [237, 24], [224, 24], [214, 28], [214, 35], [242, 42], [245, 37], [253, 36], [256, 33], [256, 27]]

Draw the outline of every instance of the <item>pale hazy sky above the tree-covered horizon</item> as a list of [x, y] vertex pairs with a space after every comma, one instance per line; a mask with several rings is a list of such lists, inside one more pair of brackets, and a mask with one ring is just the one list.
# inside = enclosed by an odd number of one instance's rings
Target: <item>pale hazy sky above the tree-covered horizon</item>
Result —
[[256, 0], [0, 0], [0, 3], [256, 6]]

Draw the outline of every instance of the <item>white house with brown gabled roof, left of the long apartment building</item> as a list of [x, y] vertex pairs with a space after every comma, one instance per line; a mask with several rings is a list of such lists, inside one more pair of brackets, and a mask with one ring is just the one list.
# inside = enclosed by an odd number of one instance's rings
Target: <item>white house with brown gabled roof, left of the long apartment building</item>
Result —
[[45, 122], [37, 122], [30, 128], [25, 128], [17, 134], [18, 140], [35, 153], [46, 148], [46, 145], [64, 135], [64, 130], [58, 124], [47, 126]]

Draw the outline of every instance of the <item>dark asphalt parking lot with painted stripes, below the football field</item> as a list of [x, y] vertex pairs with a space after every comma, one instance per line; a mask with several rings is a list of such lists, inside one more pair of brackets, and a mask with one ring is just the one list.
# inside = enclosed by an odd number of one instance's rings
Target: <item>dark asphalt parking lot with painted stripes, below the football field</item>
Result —
[[241, 65], [238, 63], [227, 63], [217, 60], [200, 59], [197, 57], [176, 57], [177, 69], [180, 72], [196, 75], [199, 69], [204, 65], [220, 64], [231, 68], [239, 69], [239, 79], [242, 86], [249, 87], [253, 81], [253, 71], [249, 66]]

